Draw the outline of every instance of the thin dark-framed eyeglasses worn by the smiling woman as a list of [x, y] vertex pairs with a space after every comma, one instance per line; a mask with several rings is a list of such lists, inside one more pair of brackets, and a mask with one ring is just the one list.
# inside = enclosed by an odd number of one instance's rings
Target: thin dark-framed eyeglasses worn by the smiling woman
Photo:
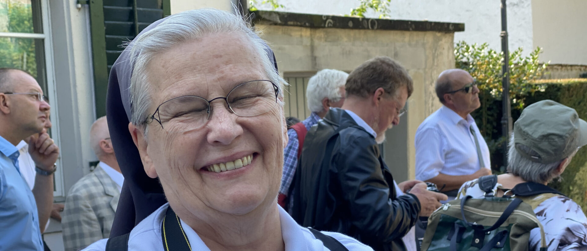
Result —
[[216, 99], [224, 99], [229, 111], [237, 116], [249, 117], [274, 109], [278, 94], [279, 88], [269, 80], [248, 81], [234, 87], [226, 97], [207, 100], [190, 95], [169, 99], [157, 106], [145, 123], [154, 120], [167, 132], [187, 132], [200, 128], [210, 119], [210, 102]]

